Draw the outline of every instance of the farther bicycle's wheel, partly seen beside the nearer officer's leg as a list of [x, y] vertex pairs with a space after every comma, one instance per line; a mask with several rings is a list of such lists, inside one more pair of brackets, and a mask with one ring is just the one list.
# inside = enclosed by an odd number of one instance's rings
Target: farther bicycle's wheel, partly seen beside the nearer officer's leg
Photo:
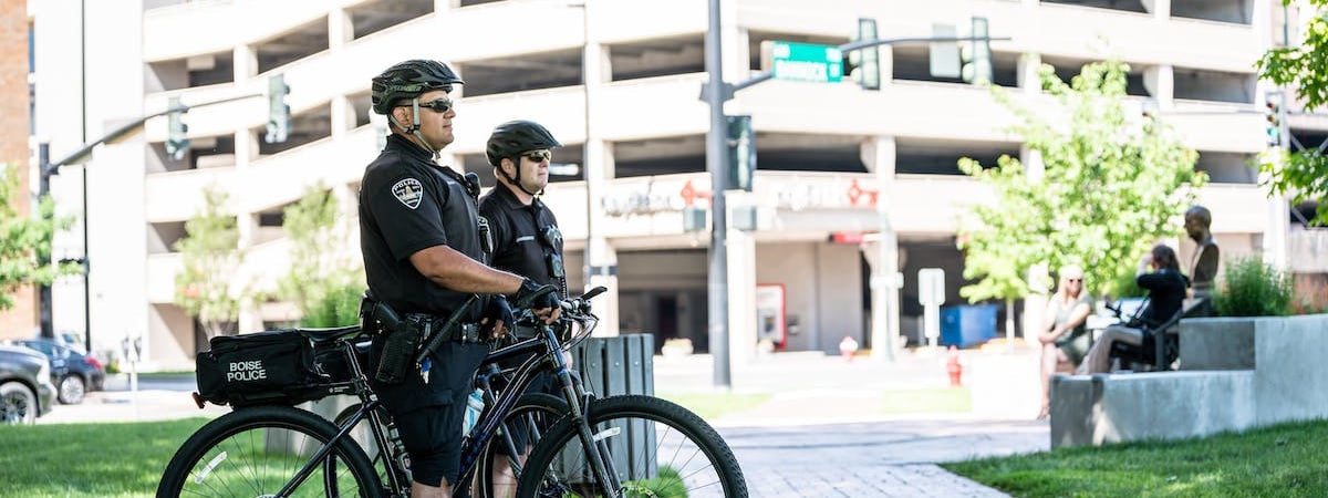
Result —
[[[567, 401], [544, 393], [529, 393], [523, 394], [521, 400], [517, 401], [517, 406], [507, 412], [503, 417], [503, 429], [511, 429], [514, 432], [521, 432], [522, 436], [517, 436], [514, 441], [534, 445], [539, 442], [543, 433], [548, 430], [559, 418], [571, 412], [567, 406]], [[485, 444], [483, 450], [479, 452], [479, 459], [477, 461], [478, 470], [475, 471], [475, 478], [479, 482], [477, 487], [477, 495], [481, 498], [503, 498], [510, 497], [511, 491], [517, 489], [517, 478], [521, 477], [519, 466], [521, 462], [513, 462], [510, 452], [501, 448], [506, 446], [507, 438], [503, 434], [503, 429], [499, 429], [497, 434], [489, 438]], [[517, 448], [517, 453], [525, 452], [525, 448]], [[511, 471], [502, 473], [502, 475], [494, 475], [494, 467], [509, 466]]]

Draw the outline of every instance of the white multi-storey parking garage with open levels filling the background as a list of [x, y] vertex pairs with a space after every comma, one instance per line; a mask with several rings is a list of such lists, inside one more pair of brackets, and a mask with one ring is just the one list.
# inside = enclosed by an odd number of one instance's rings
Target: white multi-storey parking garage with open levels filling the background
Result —
[[[761, 68], [765, 41], [849, 42], [859, 17], [880, 37], [930, 36], [934, 24], [989, 21], [995, 84], [1049, 106], [1036, 69], [1069, 78], [1085, 62], [1130, 64], [1129, 105], [1157, 109], [1201, 153], [1211, 183], [1199, 202], [1227, 258], [1287, 260], [1286, 202], [1270, 201], [1250, 161], [1264, 150], [1264, 90], [1252, 61], [1282, 31], [1270, 0], [721, 3], [722, 72]], [[604, 333], [651, 332], [708, 348], [705, 0], [117, 0], [29, 1], [36, 27], [37, 135], [53, 154], [117, 124], [167, 109], [185, 114], [191, 149], [166, 153], [166, 117], [100, 147], [88, 163], [86, 247], [94, 347], [141, 337], [154, 368], [187, 368], [206, 337], [173, 303], [174, 243], [202, 191], [230, 194], [247, 260], [238, 278], [272, 287], [290, 243], [282, 210], [321, 182], [355, 214], [363, 167], [382, 122], [369, 78], [413, 57], [450, 62], [466, 80], [457, 142], [442, 163], [485, 177], [494, 125], [529, 118], [575, 163], [544, 201], [559, 216], [572, 288], [606, 284]], [[72, 15], [81, 13], [81, 15]], [[641, 21], [641, 20], [649, 20]], [[76, 40], [76, 41], [70, 41]], [[758, 163], [750, 193], [729, 193], [728, 309], [737, 364], [766, 339], [786, 351], [837, 351], [843, 336], [874, 345], [919, 341], [918, 271], [943, 268], [948, 304], [961, 303], [956, 220], [991, 195], [956, 161], [1008, 154], [1036, 162], [1007, 131], [1013, 117], [987, 89], [932, 77], [926, 45], [880, 48], [879, 90], [851, 81], [765, 81], [725, 105], [752, 116]], [[81, 65], [68, 64], [78, 61]], [[263, 138], [268, 78], [290, 85], [292, 131]], [[84, 97], [80, 97], [84, 96]], [[199, 105], [205, 102], [219, 102]], [[81, 114], [80, 114], [81, 112]], [[78, 129], [78, 120], [85, 116]], [[1292, 126], [1321, 135], [1304, 117]], [[53, 185], [62, 210], [82, 206], [78, 178]], [[689, 223], [691, 222], [691, 223]], [[353, 240], [353, 239], [352, 239]], [[1177, 240], [1182, 258], [1193, 251]], [[588, 248], [588, 251], [587, 251]], [[356, 247], [329, 248], [356, 251]], [[587, 256], [588, 262], [587, 262]], [[60, 255], [57, 254], [57, 258]], [[587, 264], [590, 263], [590, 264]], [[894, 287], [892, 284], [899, 284]], [[82, 331], [82, 280], [56, 287], [56, 328]], [[283, 303], [246, 307], [242, 331], [297, 319]]]

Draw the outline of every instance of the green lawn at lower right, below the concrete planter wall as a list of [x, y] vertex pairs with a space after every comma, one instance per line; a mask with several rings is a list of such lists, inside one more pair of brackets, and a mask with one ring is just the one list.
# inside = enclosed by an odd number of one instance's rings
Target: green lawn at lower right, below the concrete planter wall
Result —
[[1013, 497], [1324, 497], [1325, 440], [1328, 421], [1315, 421], [943, 466]]

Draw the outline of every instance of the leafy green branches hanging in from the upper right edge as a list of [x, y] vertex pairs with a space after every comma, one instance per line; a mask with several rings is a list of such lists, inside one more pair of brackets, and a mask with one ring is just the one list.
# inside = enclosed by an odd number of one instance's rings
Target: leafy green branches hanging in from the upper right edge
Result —
[[[1312, 113], [1328, 104], [1328, 0], [1301, 0], [1309, 9], [1300, 46], [1278, 46], [1255, 66], [1259, 77], [1278, 86], [1291, 86]], [[1284, 5], [1292, 4], [1283, 0]], [[1304, 12], [1313, 11], [1313, 12]], [[1315, 222], [1328, 223], [1328, 155], [1317, 147], [1266, 154], [1259, 163], [1264, 183], [1276, 194], [1291, 194], [1296, 203], [1320, 201]]]

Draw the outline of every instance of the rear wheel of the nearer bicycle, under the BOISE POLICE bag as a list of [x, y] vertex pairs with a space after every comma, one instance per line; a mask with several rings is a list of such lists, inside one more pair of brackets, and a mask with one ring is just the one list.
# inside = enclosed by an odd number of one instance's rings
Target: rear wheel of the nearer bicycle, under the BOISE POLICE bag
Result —
[[369, 458], [351, 438], [321, 459], [336, 436], [321, 417], [290, 406], [252, 406], [203, 425], [166, 465], [157, 497], [267, 497], [315, 462], [288, 497], [377, 497], [382, 491]]

